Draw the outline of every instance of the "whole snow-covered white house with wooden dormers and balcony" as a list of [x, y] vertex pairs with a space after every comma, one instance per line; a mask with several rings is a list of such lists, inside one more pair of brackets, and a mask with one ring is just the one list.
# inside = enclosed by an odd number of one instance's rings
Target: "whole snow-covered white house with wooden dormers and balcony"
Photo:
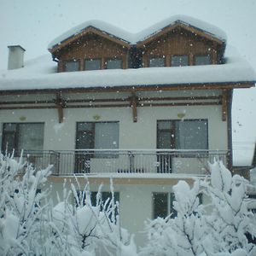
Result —
[[49, 44], [52, 61], [24, 67], [24, 49], [10, 46], [2, 150], [53, 164], [53, 192], [86, 173], [108, 195], [113, 177], [122, 223], [142, 244], [143, 221], [173, 211], [172, 185], [204, 177], [214, 158], [232, 166], [232, 92], [255, 74], [225, 49], [224, 32], [184, 16], [138, 34], [89, 21]]

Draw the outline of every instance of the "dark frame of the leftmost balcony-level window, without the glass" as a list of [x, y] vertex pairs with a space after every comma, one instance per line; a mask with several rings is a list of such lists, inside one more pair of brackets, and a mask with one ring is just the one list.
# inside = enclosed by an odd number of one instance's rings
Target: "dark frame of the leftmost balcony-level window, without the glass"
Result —
[[[16, 125], [15, 127], [15, 131], [4, 131], [5, 125]], [[9, 150], [13, 150], [15, 149], [15, 156], [19, 155], [20, 153], [18, 153], [18, 149], [19, 149], [19, 137], [20, 137], [20, 125], [43, 125], [43, 145], [42, 145], [42, 150], [44, 149], [44, 122], [28, 122], [28, 123], [19, 123], [19, 122], [9, 122], [9, 123], [3, 123], [2, 126], [2, 152], [4, 152], [6, 150], [6, 144], [4, 145], [4, 137], [5, 134], [11, 134], [11, 133], [15, 133], [15, 148], [11, 148]], [[28, 149], [28, 150], [32, 150], [32, 149]]]

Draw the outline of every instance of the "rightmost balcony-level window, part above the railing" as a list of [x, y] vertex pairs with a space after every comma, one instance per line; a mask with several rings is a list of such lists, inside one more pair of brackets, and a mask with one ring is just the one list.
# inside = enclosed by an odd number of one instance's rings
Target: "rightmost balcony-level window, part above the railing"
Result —
[[157, 147], [166, 149], [207, 149], [207, 119], [158, 121]]

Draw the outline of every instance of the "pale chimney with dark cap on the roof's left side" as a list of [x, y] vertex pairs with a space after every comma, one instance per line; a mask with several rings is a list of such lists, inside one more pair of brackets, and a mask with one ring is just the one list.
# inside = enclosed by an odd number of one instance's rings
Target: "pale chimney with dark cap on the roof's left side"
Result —
[[24, 67], [25, 49], [20, 45], [9, 45], [8, 69]]

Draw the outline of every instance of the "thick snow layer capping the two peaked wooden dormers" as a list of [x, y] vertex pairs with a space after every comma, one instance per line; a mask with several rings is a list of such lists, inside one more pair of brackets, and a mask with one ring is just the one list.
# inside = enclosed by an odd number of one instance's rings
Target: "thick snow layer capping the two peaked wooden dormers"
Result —
[[74, 26], [72, 29], [61, 34], [61, 36], [55, 38], [52, 42], [49, 43], [48, 49], [52, 49], [55, 45], [61, 44], [61, 42], [65, 41], [67, 38], [72, 38], [80, 32], [83, 32], [86, 28], [90, 26], [95, 27], [101, 30], [102, 32], [106, 32], [108, 33], [108, 35], [111, 35], [113, 37], [125, 40], [126, 42], [129, 42], [131, 44], [136, 44], [137, 42], [143, 41], [144, 39], [154, 35], [166, 26], [172, 26], [177, 22], [183, 23], [187, 26], [194, 26], [197, 29], [206, 32], [207, 34], [210, 34], [215, 38], [218, 38], [222, 41], [226, 41], [225, 32], [219, 29], [218, 27], [212, 26], [211, 24], [205, 21], [197, 20], [189, 16], [174, 15], [166, 20], [162, 20], [159, 23], [154, 24], [154, 26], [149, 26], [142, 32], [137, 33], [126, 32], [125, 30], [122, 30], [117, 26], [113, 26], [101, 20], [89, 20], [80, 24], [79, 26]]

